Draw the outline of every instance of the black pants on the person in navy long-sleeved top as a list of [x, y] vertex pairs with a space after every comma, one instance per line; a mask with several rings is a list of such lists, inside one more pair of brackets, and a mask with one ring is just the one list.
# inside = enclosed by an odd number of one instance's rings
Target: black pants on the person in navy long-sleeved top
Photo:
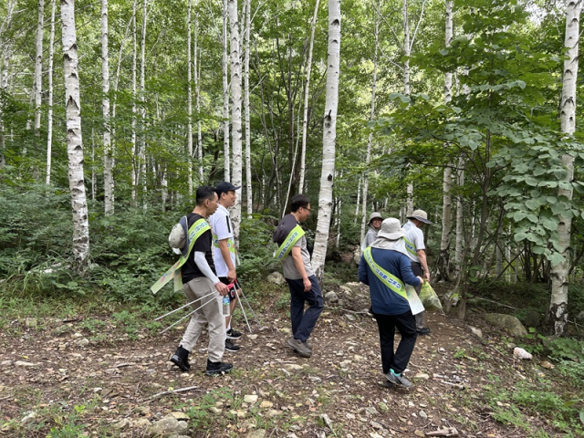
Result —
[[[408, 367], [408, 362], [410, 361], [413, 347], [416, 345], [416, 338], [418, 337], [412, 310], [408, 310], [400, 315], [375, 314], [375, 320], [380, 330], [383, 374], [390, 372], [390, 369], [400, 373]], [[393, 337], [396, 327], [400, 330], [401, 341], [398, 349], [393, 352]]]

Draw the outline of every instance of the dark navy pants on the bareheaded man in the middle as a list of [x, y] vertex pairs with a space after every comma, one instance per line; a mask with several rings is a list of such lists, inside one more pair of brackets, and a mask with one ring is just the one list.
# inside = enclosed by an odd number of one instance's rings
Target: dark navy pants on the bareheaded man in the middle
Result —
[[[302, 342], [310, 338], [310, 334], [317, 325], [317, 319], [325, 308], [325, 302], [318, 286], [316, 276], [309, 276], [312, 287], [308, 292], [304, 291], [302, 278], [298, 280], [286, 279], [290, 289], [290, 319], [292, 320], [292, 335]], [[304, 303], [308, 303], [308, 309], [304, 311]]]

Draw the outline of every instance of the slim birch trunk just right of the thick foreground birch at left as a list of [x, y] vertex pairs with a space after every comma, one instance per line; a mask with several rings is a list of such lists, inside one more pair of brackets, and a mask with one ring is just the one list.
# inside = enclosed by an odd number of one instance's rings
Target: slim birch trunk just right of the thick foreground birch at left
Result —
[[108, 23], [108, 0], [101, 0], [101, 91], [103, 99], [103, 193], [104, 213], [114, 213], [113, 199], [113, 152], [111, 151], [110, 126], [110, 28]]

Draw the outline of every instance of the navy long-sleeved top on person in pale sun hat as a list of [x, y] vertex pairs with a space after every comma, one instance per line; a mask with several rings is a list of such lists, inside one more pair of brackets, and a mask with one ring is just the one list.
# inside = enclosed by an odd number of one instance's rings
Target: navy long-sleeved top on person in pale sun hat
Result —
[[[420, 279], [412, 274], [412, 264], [407, 255], [391, 249], [371, 248], [375, 263], [407, 285], [418, 286]], [[359, 264], [359, 281], [370, 287], [371, 307], [373, 313], [380, 315], [401, 315], [410, 310], [408, 300], [393, 292], [371, 271], [361, 255]]]

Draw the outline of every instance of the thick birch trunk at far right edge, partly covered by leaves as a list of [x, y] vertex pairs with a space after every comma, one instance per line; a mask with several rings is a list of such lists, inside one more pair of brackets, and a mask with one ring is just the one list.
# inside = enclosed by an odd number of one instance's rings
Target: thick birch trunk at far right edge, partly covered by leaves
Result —
[[[576, 86], [578, 79], [578, 51], [579, 51], [579, 20], [582, 9], [581, 0], [566, 2], [566, 37], [564, 47], [567, 49], [568, 59], [564, 60], [564, 83], [562, 86], [561, 101], [561, 130], [572, 136], [576, 130]], [[564, 182], [569, 189], [558, 188], [558, 195], [571, 201], [573, 195], [572, 180], [574, 178], [574, 159], [567, 155], [562, 156], [562, 163], [568, 171]], [[549, 304], [548, 326], [557, 336], [562, 336], [568, 323], [568, 285], [570, 263], [570, 233], [571, 216], [559, 215], [558, 237], [561, 255], [564, 261], [551, 270], [551, 302]]]

